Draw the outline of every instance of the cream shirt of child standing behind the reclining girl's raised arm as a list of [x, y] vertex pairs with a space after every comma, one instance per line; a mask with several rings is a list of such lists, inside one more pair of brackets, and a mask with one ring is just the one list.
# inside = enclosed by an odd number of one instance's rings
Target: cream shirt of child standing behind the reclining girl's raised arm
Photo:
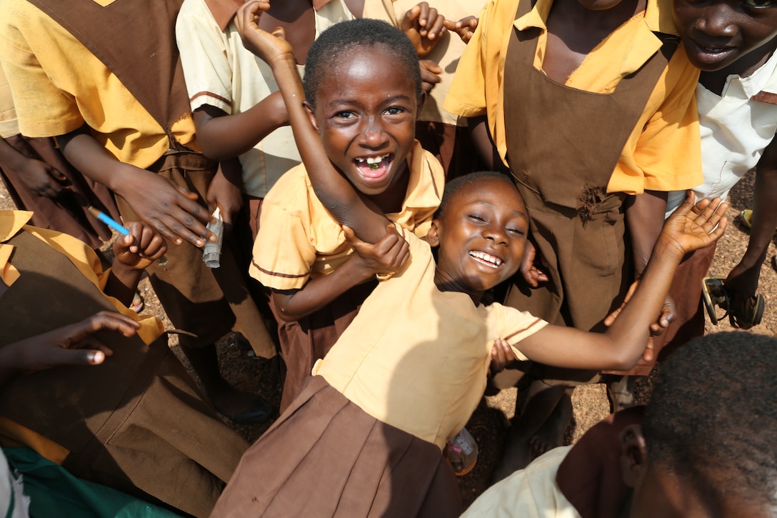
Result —
[[[343, 0], [332, 0], [315, 12], [315, 37], [353, 18]], [[209, 104], [239, 114], [278, 91], [270, 65], [243, 47], [234, 21], [221, 30], [204, 0], [183, 2], [176, 39], [192, 110]], [[298, 70], [301, 75], [304, 67]], [[243, 191], [264, 198], [278, 178], [300, 162], [291, 127], [277, 128], [240, 156]]]

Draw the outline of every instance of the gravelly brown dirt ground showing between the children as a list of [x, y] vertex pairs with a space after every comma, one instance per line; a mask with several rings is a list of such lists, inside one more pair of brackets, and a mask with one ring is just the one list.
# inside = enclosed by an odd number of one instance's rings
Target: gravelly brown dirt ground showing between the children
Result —
[[[720, 240], [717, 247], [717, 254], [711, 274], [726, 275], [731, 268], [739, 261], [739, 257], [744, 253], [747, 247], [747, 227], [745, 227], [738, 215], [744, 208], [752, 206], [752, 189], [754, 174], [751, 173], [740, 181], [735, 187], [730, 197], [731, 207], [728, 217], [730, 225], [726, 236]], [[5, 187], [0, 184], [0, 209], [14, 208], [12, 202], [5, 191]], [[760, 326], [752, 331], [758, 334], [774, 334], [777, 329], [777, 313], [771, 305], [772, 293], [777, 287], [777, 272], [772, 267], [775, 259], [775, 242], [769, 247], [767, 260], [761, 268], [760, 290], [764, 294], [767, 305], [764, 320]], [[145, 312], [155, 313], [166, 325], [166, 328], [172, 328], [162, 307], [159, 305], [148, 279], [144, 278], [140, 285], [141, 295], [145, 299]], [[722, 322], [718, 326], [707, 324], [707, 332], [730, 331], [731, 327], [728, 321]], [[179, 351], [176, 341], [173, 338], [171, 347], [179, 358], [186, 364], [186, 359]], [[268, 401], [277, 406], [280, 402], [280, 371], [277, 359], [257, 359], [250, 358], [245, 352], [235, 345], [233, 335], [228, 335], [218, 344], [219, 362], [221, 372], [225, 373], [228, 381], [235, 386], [260, 394]], [[646, 402], [650, 397], [650, 379], [642, 379], [637, 387], [638, 399], [640, 402]], [[475, 436], [479, 444], [479, 460], [476, 467], [467, 475], [459, 479], [459, 485], [462, 489], [462, 495], [465, 503], [469, 504], [472, 499], [483, 492], [489, 485], [491, 473], [496, 467], [500, 457], [501, 445], [507, 432], [508, 419], [513, 416], [514, 404], [517, 391], [515, 389], [502, 390], [496, 394], [490, 394], [483, 397], [472, 420], [467, 428]], [[579, 387], [573, 395], [574, 417], [573, 425], [566, 434], [567, 443], [576, 441], [587, 429], [596, 422], [605, 418], [609, 413], [609, 404], [605, 395], [604, 386], [592, 385], [588, 387]], [[257, 439], [268, 424], [256, 426], [236, 425], [235, 429], [249, 441]]]

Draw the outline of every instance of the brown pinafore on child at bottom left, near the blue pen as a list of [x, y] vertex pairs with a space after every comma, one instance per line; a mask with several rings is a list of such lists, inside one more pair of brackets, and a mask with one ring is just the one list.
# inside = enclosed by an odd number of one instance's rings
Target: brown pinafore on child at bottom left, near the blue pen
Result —
[[[44, 241], [22, 230], [7, 243], [20, 276], [0, 296], [0, 347], [115, 311]], [[0, 387], [0, 415], [70, 450], [63, 467], [80, 478], [207, 516], [248, 444], [200, 399], [166, 336], [97, 336], [113, 350], [102, 365], [19, 374]]]

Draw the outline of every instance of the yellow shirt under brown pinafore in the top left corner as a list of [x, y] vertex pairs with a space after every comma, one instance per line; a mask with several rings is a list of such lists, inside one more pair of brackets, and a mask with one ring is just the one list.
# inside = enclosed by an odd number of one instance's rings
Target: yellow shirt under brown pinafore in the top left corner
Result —
[[[169, 148], [164, 129], [119, 78], [26, 0], [2, 2], [0, 59], [23, 135], [56, 137], [86, 123], [108, 152], [141, 168]], [[195, 146], [191, 117], [176, 121], [172, 134], [181, 144]]]

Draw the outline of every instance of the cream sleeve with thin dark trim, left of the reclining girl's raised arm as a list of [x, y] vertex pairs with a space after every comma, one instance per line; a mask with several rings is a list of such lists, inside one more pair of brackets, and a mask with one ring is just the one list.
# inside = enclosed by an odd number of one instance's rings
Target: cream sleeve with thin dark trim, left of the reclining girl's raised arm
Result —
[[205, 2], [183, 2], [176, 41], [192, 110], [209, 104], [232, 114], [232, 66], [225, 38]]

